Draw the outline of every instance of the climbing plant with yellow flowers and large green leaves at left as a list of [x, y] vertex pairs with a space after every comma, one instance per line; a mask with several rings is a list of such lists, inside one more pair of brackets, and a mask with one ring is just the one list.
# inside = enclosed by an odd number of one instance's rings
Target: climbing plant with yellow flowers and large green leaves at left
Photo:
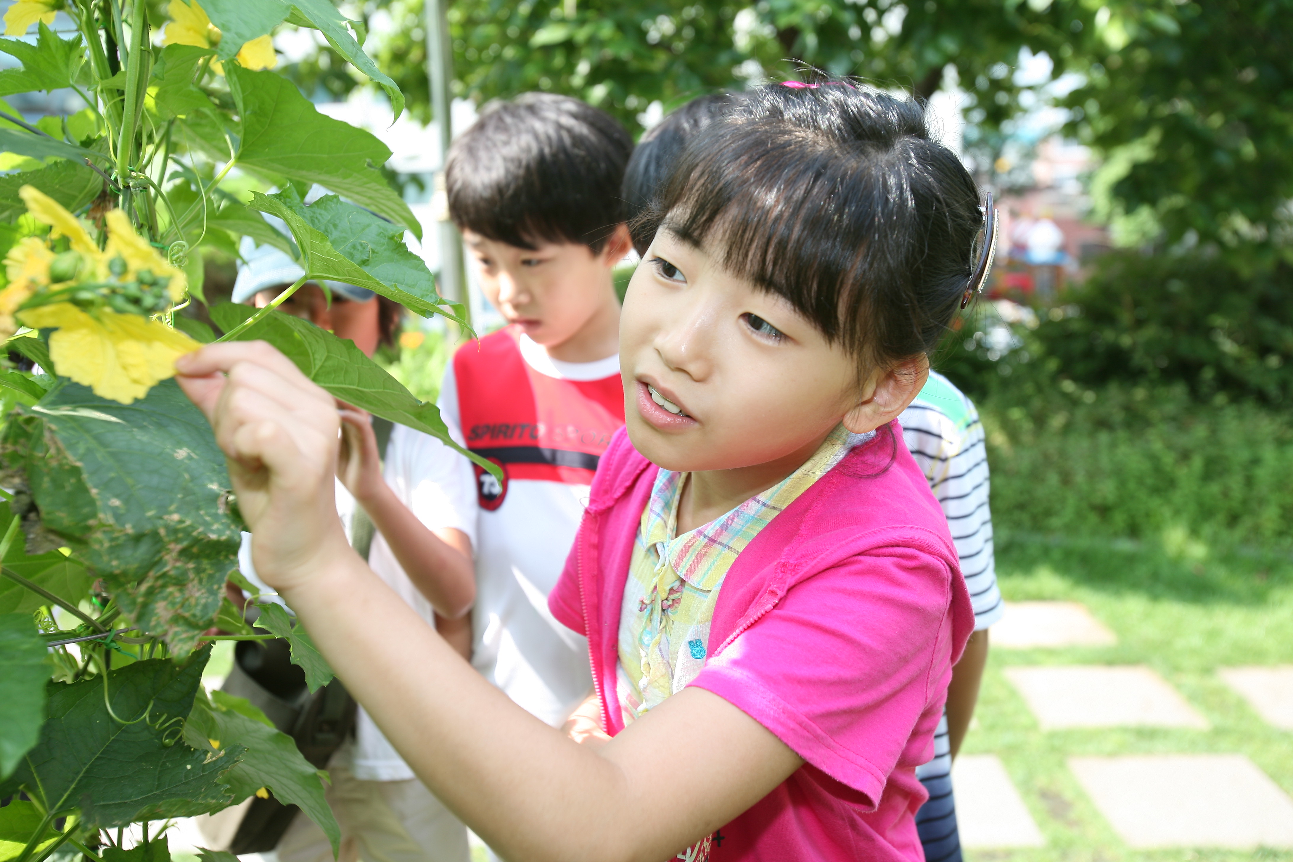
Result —
[[[238, 503], [176, 357], [264, 339], [339, 399], [451, 445], [436, 407], [352, 342], [274, 310], [332, 279], [459, 319], [405, 247], [420, 226], [383, 178], [390, 151], [273, 71], [269, 35], [318, 30], [397, 115], [400, 89], [331, 3], [203, 4], [172, 0], [163, 21], [142, 0], [17, 0], [5, 16], [0, 859], [156, 862], [156, 821], [252, 795], [299, 805], [336, 848], [319, 772], [256, 707], [200, 685], [221, 638], [287, 638], [310, 690], [331, 671], [279, 606], [253, 627], [225, 596]], [[79, 105], [31, 121], [4, 101], [37, 90]], [[203, 255], [243, 238], [305, 274], [268, 308], [209, 309], [219, 331], [185, 317], [206, 301]]]

